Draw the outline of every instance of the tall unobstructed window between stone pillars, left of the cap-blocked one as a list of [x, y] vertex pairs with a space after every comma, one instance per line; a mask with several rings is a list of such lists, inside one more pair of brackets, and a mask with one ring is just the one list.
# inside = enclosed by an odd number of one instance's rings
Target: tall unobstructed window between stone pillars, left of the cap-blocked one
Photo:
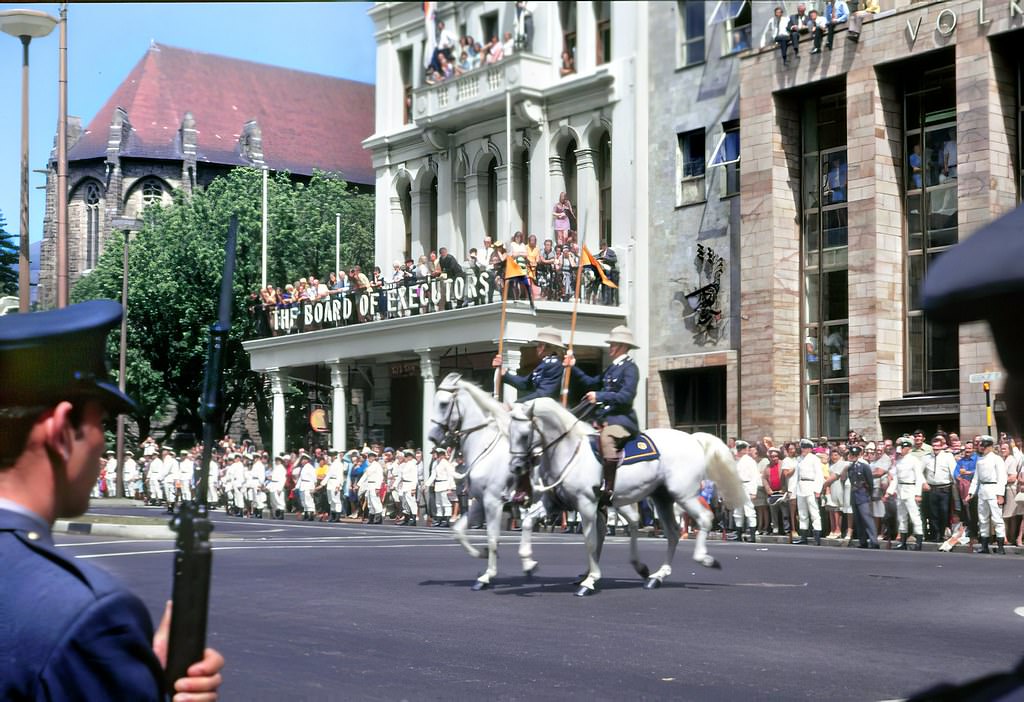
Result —
[[850, 415], [846, 92], [801, 116], [804, 431], [846, 436]]

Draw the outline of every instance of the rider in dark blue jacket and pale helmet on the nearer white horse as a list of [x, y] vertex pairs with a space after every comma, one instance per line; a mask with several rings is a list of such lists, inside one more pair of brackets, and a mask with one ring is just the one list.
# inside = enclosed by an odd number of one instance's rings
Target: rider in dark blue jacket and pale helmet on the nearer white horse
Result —
[[572, 366], [572, 376], [591, 390], [585, 398], [597, 404], [595, 420], [601, 428], [599, 443], [601, 462], [604, 465], [604, 486], [601, 503], [611, 503], [611, 493], [615, 484], [615, 469], [618, 468], [618, 449], [640, 433], [639, 421], [633, 409], [640, 384], [640, 369], [629, 356], [630, 349], [637, 348], [633, 333], [627, 326], [616, 326], [608, 336], [608, 355], [611, 364], [600, 376], [588, 376], [575, 367], [571, 355], [566, 362]]

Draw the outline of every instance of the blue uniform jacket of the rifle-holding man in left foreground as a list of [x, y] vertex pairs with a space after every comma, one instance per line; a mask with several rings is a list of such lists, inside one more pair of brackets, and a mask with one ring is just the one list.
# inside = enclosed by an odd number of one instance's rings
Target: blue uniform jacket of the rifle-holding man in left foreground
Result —
[[162, 675], [142, 602], [0, 509], [0, 700], [163, 700]]

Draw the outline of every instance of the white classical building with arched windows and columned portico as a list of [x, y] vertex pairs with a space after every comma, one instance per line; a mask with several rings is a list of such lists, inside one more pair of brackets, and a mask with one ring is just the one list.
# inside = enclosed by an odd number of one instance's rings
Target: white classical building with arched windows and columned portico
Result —
[[[647, 156], [648, 28], [645, 3], [531, 2], [517, 21], [514, 2], [439, 2], [436, 18], [455, 37], [515, 34], [511, 55], [438, 82], [423, 3], [370, 10], [377, 38], [376, 132], [364, 145], [376, 171], [376, 259], [417, 259], [447, 248], [464, 261], [485, 235], [513, 231], [553, 238], [553, 207], [568, 193], [582, 244], [606, 240], [618, 257], [617, 304], [581, 304], [581, 364], [596, 372], [604, 339], [629, 324], [648, 367]], [[528, 30], [522, 36], [522, 30]], [[571, 69], [563, 50], [573, 57]], [[456, 49], [458, 52], [458, 48]], [[456, 56], [458, 58], [458, 56]], [[565, 70], [563, 70], [563, 67]], [[572, 305], [510, 304], [505, 363], [527, 372], [531, 340], [548, 324], [568, 337]], [[252, 367], [271, 379], [274, 451], [285, 435], [285, 394], [301, 384], [330, 396], [331, 443], [367, 440], [426, 445], [436, 382], [457, 370], [490, 387], [501, 305], [494, 302], [398, 316], [246, 343]], [[645, 389], [637, 411], [645, 419]], [[321, 395], [323, 391], [323, 395]], [[506, 386], [505, 399], [514, 398]]]

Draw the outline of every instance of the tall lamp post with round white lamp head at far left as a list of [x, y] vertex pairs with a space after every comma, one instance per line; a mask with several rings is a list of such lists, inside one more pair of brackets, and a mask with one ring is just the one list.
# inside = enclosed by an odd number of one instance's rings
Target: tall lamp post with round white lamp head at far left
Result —
[[17, 300], [18, 311], [28, 312], [29, 278], [29, 43], [45, 37], [57, 19], [39, 10], [0, 12], [0, 32], [22, 40], [22, 221], [18, 232]]

